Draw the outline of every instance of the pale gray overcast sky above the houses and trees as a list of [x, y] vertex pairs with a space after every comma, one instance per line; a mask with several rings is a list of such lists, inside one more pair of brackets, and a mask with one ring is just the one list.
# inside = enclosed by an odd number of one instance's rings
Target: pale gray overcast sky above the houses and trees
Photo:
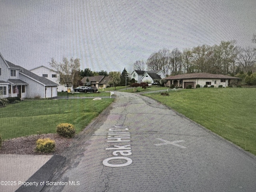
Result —
[[252, 47], [254, 33], [256, 0], [0, 0], [0, 52], [27, 69], [65, 56], [132, 72], [162, 48]]

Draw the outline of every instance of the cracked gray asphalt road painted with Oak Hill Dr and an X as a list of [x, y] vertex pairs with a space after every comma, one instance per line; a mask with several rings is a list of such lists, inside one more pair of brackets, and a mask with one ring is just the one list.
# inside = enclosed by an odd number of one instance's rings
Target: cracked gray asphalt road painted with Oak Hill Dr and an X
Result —
[[116, 96], [44, 192], [256, 191], [255, 156], [154, 100]]

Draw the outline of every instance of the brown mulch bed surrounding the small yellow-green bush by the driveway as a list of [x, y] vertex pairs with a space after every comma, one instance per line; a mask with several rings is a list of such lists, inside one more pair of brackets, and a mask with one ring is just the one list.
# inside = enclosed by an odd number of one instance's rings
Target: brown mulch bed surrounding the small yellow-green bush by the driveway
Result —
[[[32, 154], [42, 155], [40, 152], [36, 152], [36, 140], [42, 138], [50, 138], [55, 141], [55, 151], [47, 153], [46, 155], [60, 154], [68, 146], [70, 146], [73, 138], [64, 138], [58, 134], [40, 134], [31, 135], [26, 137], [18, 137], [14, 139], [4, 140], [2, 142], [2, 148], [0, 154]], [[45, 153], [44, 153], [45, 154]]]

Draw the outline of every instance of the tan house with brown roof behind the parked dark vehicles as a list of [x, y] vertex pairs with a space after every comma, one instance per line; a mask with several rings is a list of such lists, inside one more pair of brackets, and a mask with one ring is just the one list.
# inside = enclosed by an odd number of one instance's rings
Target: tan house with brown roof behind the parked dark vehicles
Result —
[[109, 86], [109, 77], [104, 75], [84, 77], [81, 81], [84, 85], [91, 85], [97, 88], [106, 88], [107, 86]]

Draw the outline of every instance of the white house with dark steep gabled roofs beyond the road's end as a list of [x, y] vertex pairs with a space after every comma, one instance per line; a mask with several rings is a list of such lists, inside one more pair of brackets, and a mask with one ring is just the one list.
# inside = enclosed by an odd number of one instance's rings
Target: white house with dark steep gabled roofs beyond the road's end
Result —
[[156, 82], [159, 82], [162, 78], [166, 78], [166, 76], [162, 70], [150, 70], [150, 71], [134, 70], [131, 74], [131, 79], [132, 78], [134, 78], [138, 83], [141, 83], [141, 82], [156, 83]]

